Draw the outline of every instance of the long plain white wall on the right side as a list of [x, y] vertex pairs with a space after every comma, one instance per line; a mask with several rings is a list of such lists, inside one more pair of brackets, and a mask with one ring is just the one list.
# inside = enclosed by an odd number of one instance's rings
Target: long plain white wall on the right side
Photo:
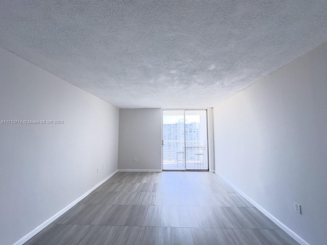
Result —
[[214, 107], [214, 126], [216, 173], [326, 244], [327, 43]]

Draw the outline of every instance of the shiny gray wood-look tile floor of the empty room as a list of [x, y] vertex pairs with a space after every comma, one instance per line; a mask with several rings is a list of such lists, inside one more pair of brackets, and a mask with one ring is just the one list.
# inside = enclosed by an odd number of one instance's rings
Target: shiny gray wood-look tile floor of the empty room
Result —
[[298, 244], [208, 172], [117, 173], [25, 244]]

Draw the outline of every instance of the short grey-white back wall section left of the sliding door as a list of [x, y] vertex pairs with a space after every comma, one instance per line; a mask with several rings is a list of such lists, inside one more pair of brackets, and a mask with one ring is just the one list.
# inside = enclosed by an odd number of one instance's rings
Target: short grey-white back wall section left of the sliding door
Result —
[[161, 117], [161, 109], [120, 109], [118, 169], [161, 170]]

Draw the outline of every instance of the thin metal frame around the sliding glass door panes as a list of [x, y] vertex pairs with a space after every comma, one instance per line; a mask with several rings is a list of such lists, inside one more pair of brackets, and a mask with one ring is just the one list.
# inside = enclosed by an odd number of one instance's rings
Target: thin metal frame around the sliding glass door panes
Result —
[[[183, 111], [184, 116], [184, 169], [164, 169], [164, 111]], [[206, 117], [206, 143], [207, 148], [205, 150], [207, 159], [206, 169], [186, 169], [186, 130], [185, 130], [185, 111], [205, 111]], [[162, 171], [209, 171], [209, 135], [208, 135], [208, 109], [162, 109], [161, 110], [161, 170]]]

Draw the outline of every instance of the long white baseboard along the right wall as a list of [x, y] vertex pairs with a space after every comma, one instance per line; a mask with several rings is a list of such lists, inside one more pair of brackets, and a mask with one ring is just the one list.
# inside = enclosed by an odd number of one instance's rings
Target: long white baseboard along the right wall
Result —
[[288, 228], [286, 225], [284, 225], [282, 222], [280, 222], [275, 216], [273, 216], [271, 213], [269, 213], [266, 209], [264, 209], [258, 203], [254, 202], [244, 192], [242, 192], [239, 188], [237, 188], [235, 185], [233, 185], [228, 180], [226, 180], [223, 176], [219, 175], [218, 173], [216, 173], [216, 175], [218, 175], [228, 185], [230, 185], [237, 192], [239, 192], [239, 194], [241, 194], [243, 198], [245, 198], [247, 201], [249, 201], [254, 207], [258, 208], [264, 215], [266, 215], [269, 219], [271, 219], [273, 223], [275, 223], [279, 228], [281, 228], [283, 231], [285, 231], [287, 234], [289, 234], [298, 243], [300, 243], [301, 245], [310, 245], [307, 241], [305, 241], [303, 238], [301, 238], [299, 235], [297, 235], [294, 231], [292, 231], [290, 228]]

